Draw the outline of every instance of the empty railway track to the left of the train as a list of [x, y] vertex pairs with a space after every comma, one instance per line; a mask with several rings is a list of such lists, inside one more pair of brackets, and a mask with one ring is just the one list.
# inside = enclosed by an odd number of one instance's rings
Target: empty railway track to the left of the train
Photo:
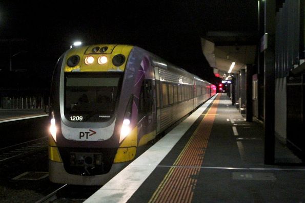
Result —
[[9, 160], [17, 159], [35, 153], [37, 151], [46, 150], [48, 148], [48, 137], [31, 140], [28, 142], [4, 147], [0, 149], [0, 164]]

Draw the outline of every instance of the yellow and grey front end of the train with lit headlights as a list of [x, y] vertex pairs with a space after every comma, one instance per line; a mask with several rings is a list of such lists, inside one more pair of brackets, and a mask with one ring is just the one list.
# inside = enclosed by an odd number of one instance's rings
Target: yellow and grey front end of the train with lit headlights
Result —
[[58, 59], [51, 90], [51, 182], [103, 185], [134, 159], [132, 103], [121, 91], [132, 48], [99, 44]]

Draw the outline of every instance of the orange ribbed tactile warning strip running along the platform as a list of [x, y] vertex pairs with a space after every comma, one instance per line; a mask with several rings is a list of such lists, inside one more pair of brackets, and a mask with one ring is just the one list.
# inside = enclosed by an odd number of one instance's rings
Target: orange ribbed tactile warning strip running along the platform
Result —
[[[220, 95], [214, 100], [185, 148], [165, 175], [149, 202], [191, 202], [196, 176], [204, 161]], [[182, 167], [181, 167], [182, 166]]]

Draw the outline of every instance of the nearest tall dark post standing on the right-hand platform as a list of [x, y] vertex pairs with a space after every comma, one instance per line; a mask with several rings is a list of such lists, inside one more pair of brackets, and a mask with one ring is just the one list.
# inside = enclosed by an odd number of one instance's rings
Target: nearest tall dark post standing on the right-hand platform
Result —
[[274, 164], [274, 98], [275, 98], [275, 0], [263, 1], [265, 6], [265, 33], [268, 47], [264, 54], [264, 115], [265, 115], [265, 164]]

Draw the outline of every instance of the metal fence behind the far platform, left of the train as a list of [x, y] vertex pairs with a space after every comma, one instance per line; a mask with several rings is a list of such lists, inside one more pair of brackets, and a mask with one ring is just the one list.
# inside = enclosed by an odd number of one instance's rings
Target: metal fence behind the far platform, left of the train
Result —
[[[46, 101], [47, 100], [47, 101]], [[7, 109], [47, 109], [50, 98], [43, 97], [2, 97], [0, 108]]]

